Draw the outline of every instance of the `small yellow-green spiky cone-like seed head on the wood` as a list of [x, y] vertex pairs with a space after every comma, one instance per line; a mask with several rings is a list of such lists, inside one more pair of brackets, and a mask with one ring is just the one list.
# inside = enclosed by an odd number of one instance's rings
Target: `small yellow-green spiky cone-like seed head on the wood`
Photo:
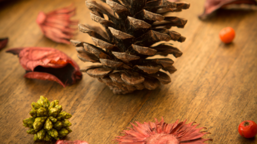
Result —
[[66, 136], [72, 130], [69, 128], [69, 119], [72, 115], [62, 111], [59, 100], [51, 103], [44, 96], [40, 96], [38, 102], [31, 103], [30, 115], [32, 117], [23, 120], [23, 126], [30, 127], [28, 134], [34, 134], [34, 140], [51, 141]]

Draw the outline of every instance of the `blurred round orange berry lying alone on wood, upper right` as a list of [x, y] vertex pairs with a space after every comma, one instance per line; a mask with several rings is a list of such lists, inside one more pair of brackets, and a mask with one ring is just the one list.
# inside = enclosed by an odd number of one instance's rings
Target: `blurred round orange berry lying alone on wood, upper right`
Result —
[[219, 38], [224, 43], [230, 43], [235, 37], [235, 30], [232, 27], [225, 27], [219, 31]]

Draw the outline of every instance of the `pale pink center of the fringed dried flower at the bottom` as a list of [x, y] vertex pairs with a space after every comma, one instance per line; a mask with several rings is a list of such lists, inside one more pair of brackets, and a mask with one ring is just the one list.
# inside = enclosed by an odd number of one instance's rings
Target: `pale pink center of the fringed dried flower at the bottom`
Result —
[[146, 144], [179, 144], [179, 140], [172, 134], [156, 133], [147, 138]]

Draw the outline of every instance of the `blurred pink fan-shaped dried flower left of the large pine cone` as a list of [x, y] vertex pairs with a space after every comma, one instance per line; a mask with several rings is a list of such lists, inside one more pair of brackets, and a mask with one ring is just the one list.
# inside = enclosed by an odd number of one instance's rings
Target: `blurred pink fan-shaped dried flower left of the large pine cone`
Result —
[[76, 30], [71, 25], [78, 24], [78, 20], [70, 19], [75, 15], [75, 9], [70, 5], [48, 13], [41, 11], [37, 17], [37, 23], [46, 37], [55, 42], [70, 44], [70, 39]]

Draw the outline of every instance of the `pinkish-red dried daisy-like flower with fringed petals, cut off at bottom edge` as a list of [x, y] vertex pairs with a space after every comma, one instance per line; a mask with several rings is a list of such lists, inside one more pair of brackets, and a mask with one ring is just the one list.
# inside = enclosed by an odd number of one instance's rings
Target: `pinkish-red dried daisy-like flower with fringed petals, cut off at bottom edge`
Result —
[[195, 122], [186, 124], [186, 120], [179, 122], [179, 119], [175, 123], [165, 123], [163, 118], [159, 122], [144, 122], [144, 124], [136, 122], [138, 126], [131, 123], [134, 128], [130, 130], [123, 130], [124, 136], [116, 136], [116, 142], [119, 144], [203, 144], [204, 141], [212, 139], [204, 139], [203, 135], [210, 133], [206, 131], [200, 131], [205, 127], [196, 128], [199, 124], [192, 125]]

